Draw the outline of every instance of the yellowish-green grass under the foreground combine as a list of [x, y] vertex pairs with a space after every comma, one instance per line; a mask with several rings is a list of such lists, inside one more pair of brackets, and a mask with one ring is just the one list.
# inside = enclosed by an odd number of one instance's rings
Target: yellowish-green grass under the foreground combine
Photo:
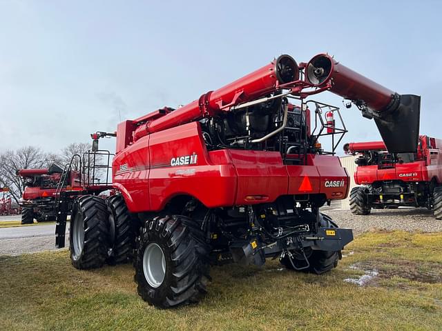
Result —
[[[68, 252], [0, 257], [0, 330], [442, 330], [442, 233], [369, 232], [322, 276], [213, 267], [199, 305], [157, 310], [131, 265], [79, 271]], [[376, 270], [364, 286], [344, 279]]]

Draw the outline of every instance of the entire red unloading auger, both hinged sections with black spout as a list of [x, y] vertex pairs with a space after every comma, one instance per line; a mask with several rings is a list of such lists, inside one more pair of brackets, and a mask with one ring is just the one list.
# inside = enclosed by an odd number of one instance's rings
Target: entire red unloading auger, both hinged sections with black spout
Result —
[[[304, 71], [304, 79], [300, 79], [300, 70]], [[308, 88], [310, 90], [306, 92]], [[133, 133], [125, 138], [124, 147], [146, 134], [214, 117], [284, 89], [296, 97], [329, 90], [349, 99], [362, 110], [364, 117], [374, 118], [389, 152], [416, 150], [421, 97], [393, 92], [343, 66], [328, 54], [318, 54], [300, 66], [289, 55], [281, 55], [267, 66], [218, 90], [202, 94], [198, 100], [177, 110], [164, 108], [150, 117], [130, 121]]]

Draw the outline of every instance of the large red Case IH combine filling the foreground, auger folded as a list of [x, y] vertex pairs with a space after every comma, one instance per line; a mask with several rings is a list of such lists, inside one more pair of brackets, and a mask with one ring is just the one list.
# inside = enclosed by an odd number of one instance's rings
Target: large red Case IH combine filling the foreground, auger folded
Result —
[[[279, 257], [289, 270], [331, 270], [353, 234], [319, 212], [349, 187], [334, 156], [346, 132], [336, 126], [339, 110], [307, 100], [327, 90], [373, 117], [390, 150], [416, 150], [420, 97], [396, 94], [327, 54], [299, 66], [282, 55], [186, 106], [119, 123], [117, 194], [60, 192], [57, 247], [70, 204], [75, 268], [135, 254], [138, 293], [161, 308], [198, 301], [211, 263]], [[93, 150], [106, 135], [93, 134]], [[318, 141], [327, 135], [336, 136], [330, 152]]]

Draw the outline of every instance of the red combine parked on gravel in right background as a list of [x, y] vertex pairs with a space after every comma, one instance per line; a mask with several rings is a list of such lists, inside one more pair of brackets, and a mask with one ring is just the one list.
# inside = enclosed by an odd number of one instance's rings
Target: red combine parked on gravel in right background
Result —
[[413, 153], [390, 153], [383, 141], [347, 143], [358, 165], [350, 193], [353, 214], [372, 208], [427, 207], [442, 219], [442, 140], [420, 136]]

